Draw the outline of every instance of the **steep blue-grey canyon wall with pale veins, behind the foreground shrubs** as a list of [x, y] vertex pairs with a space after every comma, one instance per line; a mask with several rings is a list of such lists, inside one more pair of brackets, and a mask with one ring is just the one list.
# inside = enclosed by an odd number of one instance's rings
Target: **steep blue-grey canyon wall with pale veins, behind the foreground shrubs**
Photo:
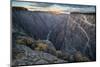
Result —
[[34, 40], [49, 40], [57, 50], [70, 54], [80, 51], [95, 60], [95, 14], [54, 14], [14, 10], [13, 29]]

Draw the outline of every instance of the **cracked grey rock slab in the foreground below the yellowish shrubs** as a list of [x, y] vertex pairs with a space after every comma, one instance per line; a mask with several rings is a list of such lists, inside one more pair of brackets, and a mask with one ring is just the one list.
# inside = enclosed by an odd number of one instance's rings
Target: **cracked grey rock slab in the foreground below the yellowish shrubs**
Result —
[[12, 65], [36, 65], [67, 62], [42, 51], [35, 51], [25, 45], [18, 45], [13, 49]]

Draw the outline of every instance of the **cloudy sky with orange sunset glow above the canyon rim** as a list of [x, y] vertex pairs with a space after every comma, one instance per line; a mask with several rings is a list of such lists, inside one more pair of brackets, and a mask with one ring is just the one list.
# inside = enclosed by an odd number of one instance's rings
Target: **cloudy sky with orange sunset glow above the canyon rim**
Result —
[[56, 12], [95, 12], [93, 5], [74, 5], [61, 3], [43, 3], [43, 2], [26, 2], [12, 1], [12, 6], [26, 7], [31, 11], [56, 11]]

